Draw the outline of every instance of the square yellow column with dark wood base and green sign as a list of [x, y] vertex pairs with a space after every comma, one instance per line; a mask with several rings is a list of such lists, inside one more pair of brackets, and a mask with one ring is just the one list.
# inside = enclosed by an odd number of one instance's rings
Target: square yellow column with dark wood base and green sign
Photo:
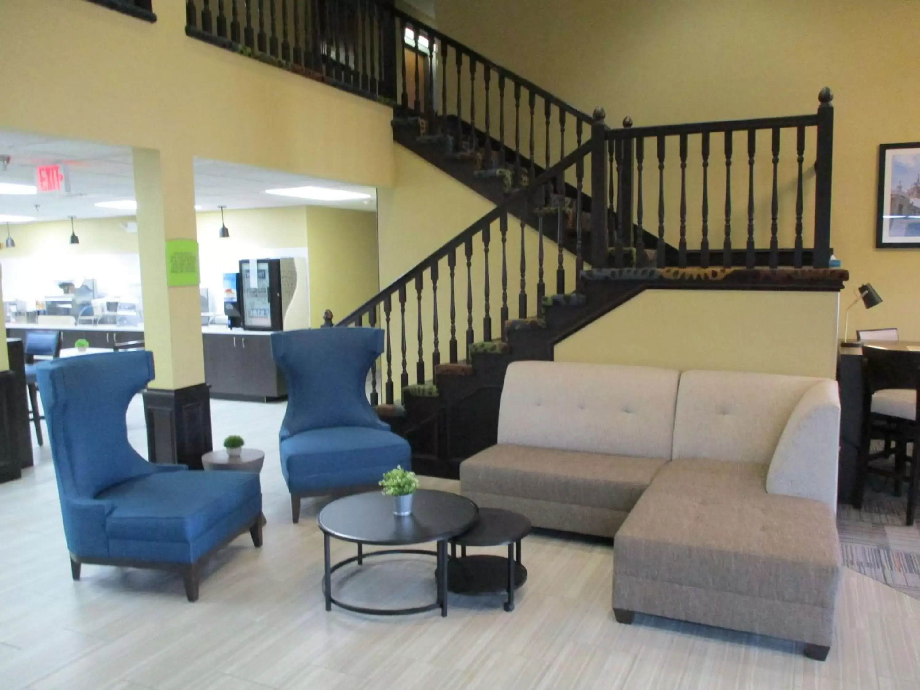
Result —
[[148, 458], [201, 469], [213, 445], [199, 287], [169, 286], [167, 268], [169, 241], [196, 240], [192, 157], [135, 148], [133, 158], [144, 343], [155, 367], [144, 391]]

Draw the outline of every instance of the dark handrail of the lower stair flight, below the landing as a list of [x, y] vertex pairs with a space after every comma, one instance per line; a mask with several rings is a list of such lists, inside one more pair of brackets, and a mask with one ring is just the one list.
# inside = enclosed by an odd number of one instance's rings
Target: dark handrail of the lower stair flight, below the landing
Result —
[[359, 316], [367, 314], [368, 311], [370, 311], [374, 306], [382, 303], [387, 296], [396, 293], [401, 286], [414, 280], [415, 277], [418, 276], [422, 271], [430, 269], [432, 264], [437, 263], [441, 259], [447, 257], [447, 255], [450, 254], [450, 252], [454, 249], [463, 246], [467, 240], [473, 236], [476, 236], [477, 232], [479, 232], [483, 227], [499, 220], [502, 214], [509, 213], [510, 209], [513, 208], [515, 203], [527, 199], [529, 196], [534, 194], [538, 188], [543, 187], [549, 182], [555, 181], [558, 178], [559, 173], [575, 165], [575, 163], [577, 163], [580, 158], [591, 155], [593, 145], [594, 144], [591, 141], [588, 141], [585, 144], [581, 144], [579, 148], [572, 151], [569, 155], [560, 160], [555, 166], [547, 168], [523, 190], [517, 190], [512, 193], [505, 201], [502, 201], [498, 206], [489, 211], [489, 213], [486, 213], [484, 216], [479, 218], [476, 223], [467, 227], [466, 230], [461, 232], [459, 235], [454, 236], [453, 239], [448, 241], [442, 247], [435, 249], [433, 252], [431, 252], [431, 254], [425, 257], [425, 259], [421, 259], [419, 263], [399, 276], [397, 280], [391, 282], [383, 290], [375, 294], [374, 297], [352, 311], [351, 314], [341, 319], [339, 323], [336, 324], [336, 326], [349, 326], [354, 323]]

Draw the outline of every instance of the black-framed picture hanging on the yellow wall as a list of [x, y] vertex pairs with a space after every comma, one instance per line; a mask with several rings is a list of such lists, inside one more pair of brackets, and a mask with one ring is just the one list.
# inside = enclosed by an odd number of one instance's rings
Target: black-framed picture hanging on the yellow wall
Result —
[[879, 146], [875, 246], [920, 248], [920, 142]]

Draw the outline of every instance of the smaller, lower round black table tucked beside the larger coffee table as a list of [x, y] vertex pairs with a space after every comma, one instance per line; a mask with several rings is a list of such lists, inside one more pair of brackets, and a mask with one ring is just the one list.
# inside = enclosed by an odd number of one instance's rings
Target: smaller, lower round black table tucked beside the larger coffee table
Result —
[[[514, 590], [527, 581], [527, 569], [521, 563], [521, 540], [530, 534], [530, 530], [530, 520], [523, 515], [498, 508], [480, 508], [477, 523], [464, 534], [451, 539], [448, 591], [455, 594], [507, 591], [505, 611], [513, 611]], [[466, 546], [504, 544], [508, 545], [508, 558], [466, 555]], [[460, 558], [456, 555], [457, 546], [461, 549]]]

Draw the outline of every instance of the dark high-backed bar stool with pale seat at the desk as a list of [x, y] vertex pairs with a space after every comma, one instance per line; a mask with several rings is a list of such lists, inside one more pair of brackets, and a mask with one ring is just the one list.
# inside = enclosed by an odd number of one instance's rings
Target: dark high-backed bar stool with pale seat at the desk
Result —
[[[914, 524], [918, 484], [920, 484], [920, 425], [917, 424], [920, 390], [920, 352], [886, 350], [863, 346], [863, 433], [857, 466], [857, 486], [853, 505], [862, 507], [869, 474], [892, 477], [895, 495], [908, 483], [906, 524]], [[879, 453], [871, 453], [872, 439], [884, 439]], [[893, 448], [890, 444], [893, 440]], [[908, 443], [913, 445], [907, 454]], [[894, 468], [872, 463], [894, 454]], [[905, 475], [907, 466], [910, 473]]]

